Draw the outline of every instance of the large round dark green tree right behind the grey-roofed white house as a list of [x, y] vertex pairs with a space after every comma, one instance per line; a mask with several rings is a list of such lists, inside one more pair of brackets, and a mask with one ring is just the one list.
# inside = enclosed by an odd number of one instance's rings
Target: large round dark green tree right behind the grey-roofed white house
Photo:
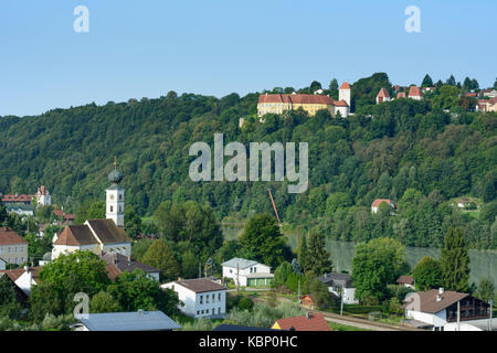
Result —
[[240, 236], [242, 252], [253, 254], [253, 260], [273, 268], [285, 260], [285, 243], [276, 218], [268, 214], [252, 216]]

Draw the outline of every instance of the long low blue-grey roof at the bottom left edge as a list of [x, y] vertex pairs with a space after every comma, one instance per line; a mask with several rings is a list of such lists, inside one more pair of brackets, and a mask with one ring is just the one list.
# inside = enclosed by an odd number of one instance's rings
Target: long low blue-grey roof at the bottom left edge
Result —
[[172, 331], [181, 325], [162, 311], [77, 314], [75, 331]]

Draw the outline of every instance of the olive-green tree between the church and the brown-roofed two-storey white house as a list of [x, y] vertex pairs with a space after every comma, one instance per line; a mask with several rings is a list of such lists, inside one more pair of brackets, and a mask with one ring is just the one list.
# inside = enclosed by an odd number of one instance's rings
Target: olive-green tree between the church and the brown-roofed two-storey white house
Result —
[[178, 278], [180, 267], [175, 255], [163, 240], [155, 240], [141, 258], [144, 264], [160, 270], [160, 280], [169, 281]]

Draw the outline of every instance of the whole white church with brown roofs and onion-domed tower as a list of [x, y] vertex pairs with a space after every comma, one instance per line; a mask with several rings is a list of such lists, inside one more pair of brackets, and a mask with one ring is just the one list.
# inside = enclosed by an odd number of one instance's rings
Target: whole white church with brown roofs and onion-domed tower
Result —
[[87, 220], [83, 225], [66, 226], [53, 239], [52, 259], [76, 250], [130, 257], [131, 239], [124, 226], [125, 189], [120, 186], [124, 175], [117, 170], [117, 162], [114, 165], [108, 174], [112, 185], [106, 190], [106, 220]]

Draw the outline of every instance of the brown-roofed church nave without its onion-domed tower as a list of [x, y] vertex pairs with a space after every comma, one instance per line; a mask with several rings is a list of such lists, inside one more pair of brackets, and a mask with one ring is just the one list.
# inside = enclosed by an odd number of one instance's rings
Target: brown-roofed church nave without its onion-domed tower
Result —
[[96, 255], [104, 252], [124, 256], [131, 254], [131, 239], [113, 220], [88, 220], [83, 225], [68, 225], [56, 237], [52, 259], [76, 250], [87, 250]]

